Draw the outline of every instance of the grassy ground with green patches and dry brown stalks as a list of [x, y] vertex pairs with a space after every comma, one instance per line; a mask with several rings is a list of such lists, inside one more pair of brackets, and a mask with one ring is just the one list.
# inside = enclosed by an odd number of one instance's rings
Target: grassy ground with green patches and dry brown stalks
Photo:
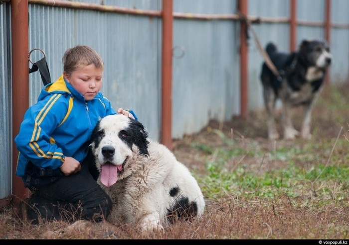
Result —
[[107, 222], [33, 226], [3, 207], [0, 238], [349, 239], [348, 89], [323, 92], [308, 141], [268, 141], [263, 111], [223, 127], [210, 122], [200, 133], [174, 141], [175, 156], [191, 169], [205, 196], [199, 221], [143, 234], [133, 225]]

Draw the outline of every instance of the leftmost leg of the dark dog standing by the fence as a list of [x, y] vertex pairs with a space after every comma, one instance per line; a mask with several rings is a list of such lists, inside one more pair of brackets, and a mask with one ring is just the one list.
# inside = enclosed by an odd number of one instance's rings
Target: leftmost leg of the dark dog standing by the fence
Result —
[[276, 95], [272, 87], [264, 86], [263, 88], [263, 97], [265, 109], [268, 115], [267, 127], [268, 127], [268, 138], [270, 140], [279, 139], [279, 134], [275, 125], [275, 103], [276, 103]]

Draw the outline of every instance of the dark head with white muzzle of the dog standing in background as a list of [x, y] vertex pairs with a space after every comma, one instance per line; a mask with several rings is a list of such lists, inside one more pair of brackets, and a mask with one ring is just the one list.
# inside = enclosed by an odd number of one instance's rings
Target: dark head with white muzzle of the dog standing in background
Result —
[[299, 49], [299, 58], [310, 67], [326, 69], [332, 62], [330, 47], [325, 40], [303, 40]]

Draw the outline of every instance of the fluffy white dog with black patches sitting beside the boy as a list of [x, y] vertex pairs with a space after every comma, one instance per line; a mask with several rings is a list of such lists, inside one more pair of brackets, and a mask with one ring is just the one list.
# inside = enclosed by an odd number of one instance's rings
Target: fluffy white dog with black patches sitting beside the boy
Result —
[[97, 181], [113, 202], [109, 222], [150, 231], [202, 216], [205, 201], [197, 181], [167, 147], [149, 139], [139, 121], [122, 114], [102, 118], [91, 149]]

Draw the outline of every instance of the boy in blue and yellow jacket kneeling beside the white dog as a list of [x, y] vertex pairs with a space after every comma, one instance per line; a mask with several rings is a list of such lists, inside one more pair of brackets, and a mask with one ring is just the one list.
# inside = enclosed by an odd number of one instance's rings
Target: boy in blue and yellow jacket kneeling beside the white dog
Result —
[[[16, 174], [32, 192], [20, 212], [34, 224], [54, 219], [99, 222], [112, 208], [90, 173], [92, 158], [87, 156], [98, 120], [116, 114], [100, 92], [103, 60], [90, 47], [76, 46], [64, 53], [62, 62], [63, 75], [42, 89], [14, 139]], [[118, 113], [133, 117], [122, 108]]]

